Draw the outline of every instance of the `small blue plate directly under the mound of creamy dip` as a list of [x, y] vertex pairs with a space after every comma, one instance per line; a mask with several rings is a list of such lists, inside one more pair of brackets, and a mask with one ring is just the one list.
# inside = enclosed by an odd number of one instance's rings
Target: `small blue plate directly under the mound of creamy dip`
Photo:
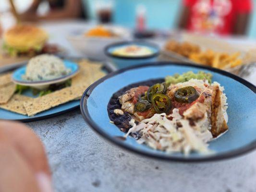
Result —
[[13, 72], [12, 80], [15, 84], [22, 84], [22, 85], [35, 86], [35, 87], [42, 86], [42, 85], [61, 83], [61, 82], [64, 82], [64, 81], [72, 78], [79, 71], [78, 65], [72, 61], [64, 60], [64, 65], [67, 69], [70, 69], [71, 72], [69, 74], [59, 77], [59, 78], [55, 78], [55, 79], [51, 79], [51, 80], [43, 80], [43, 81], [33, 81], [33, 82], [26, 81], [23, 79], [23, 76], [26, 72], [26, 66], [24, 66], [24, 67], [21, 67]]

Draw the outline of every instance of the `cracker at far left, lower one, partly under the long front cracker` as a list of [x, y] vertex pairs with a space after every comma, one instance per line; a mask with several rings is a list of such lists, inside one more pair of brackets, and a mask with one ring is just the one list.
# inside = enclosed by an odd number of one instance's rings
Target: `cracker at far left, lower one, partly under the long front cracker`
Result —
[[23, 106], [23, 103], [24, 101], [31, 101], [31, 100], [33, 100], [32, 97], [14, 94], [6, 104], [0, 105], [0, 108], [15, 112], [15, 113], [19, 113], [22, 115], [27, 115], [26, 110]]

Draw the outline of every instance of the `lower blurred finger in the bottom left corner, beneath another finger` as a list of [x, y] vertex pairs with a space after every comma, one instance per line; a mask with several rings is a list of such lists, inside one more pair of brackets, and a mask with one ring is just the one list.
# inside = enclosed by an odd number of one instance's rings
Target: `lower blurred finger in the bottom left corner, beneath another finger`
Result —
[[0, 192], [43, 192], [32, 168], [8, 142], [0, 141]]

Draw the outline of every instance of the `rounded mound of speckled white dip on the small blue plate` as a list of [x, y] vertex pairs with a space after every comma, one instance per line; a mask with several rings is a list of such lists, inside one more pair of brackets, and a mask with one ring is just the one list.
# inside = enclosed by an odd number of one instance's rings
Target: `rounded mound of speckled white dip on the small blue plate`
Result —
[[64, 62], [49, 54], [36, 56], [29, 60], [24, 79], [28, 81], [42, 81], [62, 77], [71, 72], [64, 65]]

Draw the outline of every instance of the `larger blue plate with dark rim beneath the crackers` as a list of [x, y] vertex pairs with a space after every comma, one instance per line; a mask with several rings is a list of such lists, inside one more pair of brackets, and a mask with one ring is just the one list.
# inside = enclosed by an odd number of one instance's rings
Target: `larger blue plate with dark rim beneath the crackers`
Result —
[[[71, 61], [65, 61], [65, 63], [72, 63]], [[105, 72], [111, 72], [112, 70], [110, 68], [107, 68], [107, 66], [104, 68]], [[33, 94], [31, 91], [24, 92], [24, 95], [33, 97]], [[21, 115], [18, 113], [14, 113], [5, 109], [0, 108], [0, 120], [19, 120], [23, 122], [31, 122], [36, 120], [44, 120], [47, 118], [51, 118], [57, 115], [61, 115], [63, 113], [72, 111], [76, 108], [79, 108], [80, 101], [70, 101], [68, 103], [62, 104], [60, 106], [50, 108], [49, 110], [43, 111], [41, 113], [36, 114], [33, 117], [28, 117], [26, 115]]]

